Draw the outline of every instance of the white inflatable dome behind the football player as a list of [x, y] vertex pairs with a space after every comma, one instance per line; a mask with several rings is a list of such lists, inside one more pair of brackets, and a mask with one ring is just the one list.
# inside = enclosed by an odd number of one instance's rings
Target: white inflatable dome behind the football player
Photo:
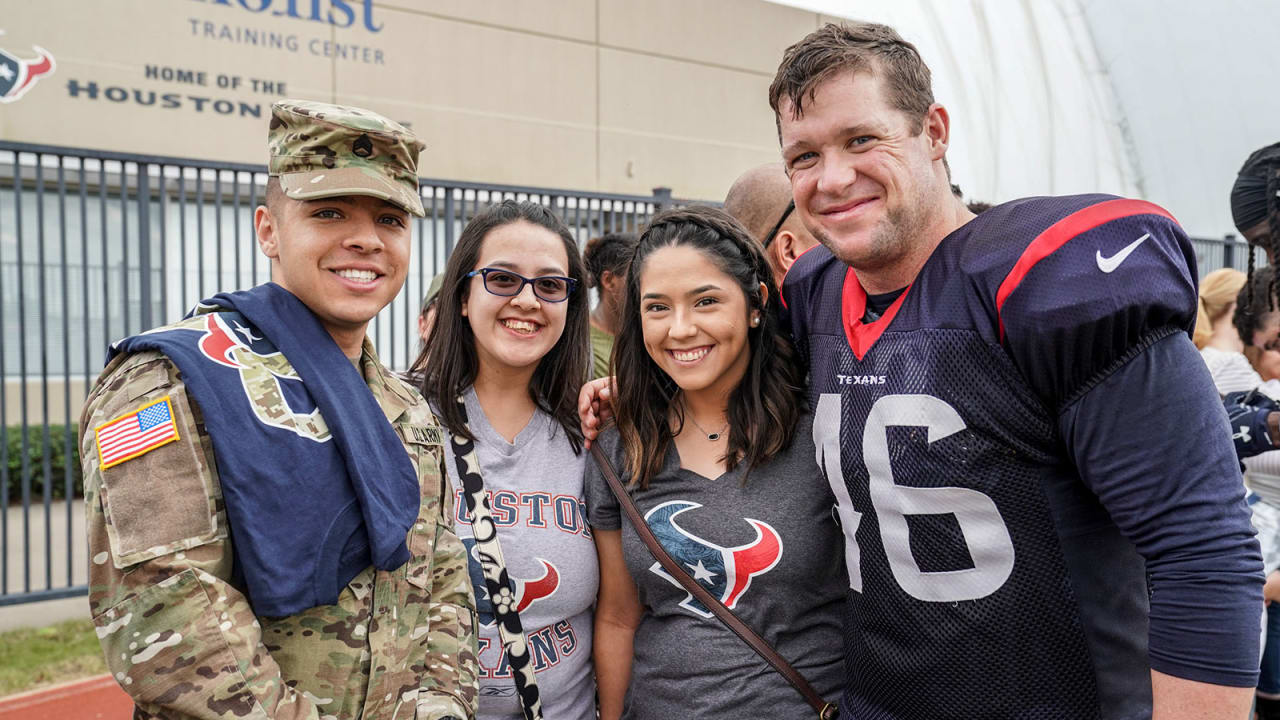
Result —
[[1280, 140], [1280, 3], [776, 0], [914, 42], [966, 199], [1114, 192], [1234, 233], [1244, 158]]

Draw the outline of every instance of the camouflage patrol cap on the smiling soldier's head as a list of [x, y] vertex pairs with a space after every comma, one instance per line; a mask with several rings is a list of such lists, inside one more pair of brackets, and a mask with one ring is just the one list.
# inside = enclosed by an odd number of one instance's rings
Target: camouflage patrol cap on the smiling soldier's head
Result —
[[268, 172], [288, 197], [370, 195], [426, 214], [417, 190], [424, 145], [394, 120], [360, 108], [280, 100], [271, 105], [266, 145]]

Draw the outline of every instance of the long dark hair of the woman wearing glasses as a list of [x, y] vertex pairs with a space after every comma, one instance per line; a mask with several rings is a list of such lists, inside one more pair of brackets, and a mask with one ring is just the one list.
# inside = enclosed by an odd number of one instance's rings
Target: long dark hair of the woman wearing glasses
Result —
[[568, 256], [568, 275], [577, 281], [570, 293], [568, 313], [564, 318], [564, 333], [550, 351], [538, 361], [538, 369], [529, 380], [529, 395], [534, 402], [556, 419], [573, 447], [582, 450], [582, 433], [577, 420], [577, 391], [586, 380], [590, 359], [586, 307], [586, 269], [577, 243], [564, 223], [554, 213], [535, 202], [502, 202], [481, 211], [467, 223], [458, 237], [458, 243], [449, 255], [444, 268], [444, 282], [440, 286], [439, 310], [435, 316], [435, 329], [410, 369], [422, 377], [422, 396], [431, 401], [440, 421], [456, 436], [475, 439], [466, 427], [457, 398], [476, 379], [479, 359], [476, 338], [471, 325], [462, 316], [462, 300], [468, 279], [465, 277], [475, 269], [480, 259], [480, 249], [490, 231], [524, 220], [556, 233], [564, 242]]

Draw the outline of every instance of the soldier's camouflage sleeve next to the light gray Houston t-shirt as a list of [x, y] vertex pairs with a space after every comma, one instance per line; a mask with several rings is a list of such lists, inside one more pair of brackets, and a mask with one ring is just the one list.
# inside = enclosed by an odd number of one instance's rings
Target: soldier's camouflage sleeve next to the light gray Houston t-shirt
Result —
[[476, 716], [480, 662], [476, 655], [475, 597], [467, 577], [467, 555], [453, 532], [453, 493], [444, 473], [440, 515], [435, 527], [431, 564], [431, 602], [428, 616], [426, 673], [419, 693], [417, 720]]

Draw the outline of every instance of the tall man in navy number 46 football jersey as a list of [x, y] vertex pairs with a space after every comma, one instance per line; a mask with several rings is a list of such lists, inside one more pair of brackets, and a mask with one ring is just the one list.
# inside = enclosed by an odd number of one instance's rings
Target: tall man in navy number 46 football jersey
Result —
[[783, 299], [846, 534], [842, 712], [1244, 717], [1262, 566], [1181, 228], [1102, 195], [974, 217], [886, 26], [791, 46], [769, 102], [824, 246]]

